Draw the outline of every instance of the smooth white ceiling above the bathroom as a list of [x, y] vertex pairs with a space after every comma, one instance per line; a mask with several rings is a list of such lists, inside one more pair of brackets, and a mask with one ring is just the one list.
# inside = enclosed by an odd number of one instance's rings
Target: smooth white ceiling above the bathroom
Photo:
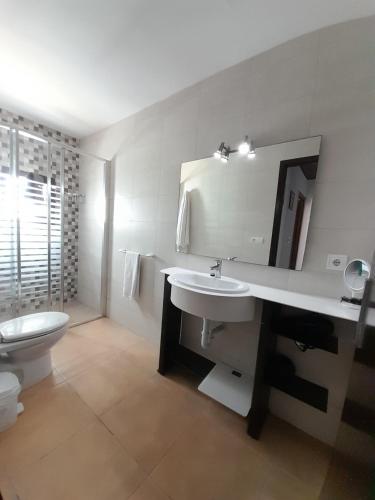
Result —
[[373, 0], [0, 0], [0, 107], [82, 137]]

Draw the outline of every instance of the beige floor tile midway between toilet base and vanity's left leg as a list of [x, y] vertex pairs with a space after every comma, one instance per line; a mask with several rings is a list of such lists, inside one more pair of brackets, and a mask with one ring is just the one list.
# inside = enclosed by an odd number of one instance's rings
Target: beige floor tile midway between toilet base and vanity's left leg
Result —
[[139, 390], [151, 375], [120, 352], [104, 359], [96, 359], [89, 368], [69, 379], [97, 415]]

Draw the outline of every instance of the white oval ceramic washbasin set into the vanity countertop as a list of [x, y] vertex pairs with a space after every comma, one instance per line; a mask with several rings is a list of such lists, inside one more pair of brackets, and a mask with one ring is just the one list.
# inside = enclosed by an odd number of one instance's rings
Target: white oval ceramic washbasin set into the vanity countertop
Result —
[[195, 272], [174, 273], [168, 281], [172, 285], [171, 301], [183, 311], [225, 322], [254, 318], [255, 299], [243, 281]]

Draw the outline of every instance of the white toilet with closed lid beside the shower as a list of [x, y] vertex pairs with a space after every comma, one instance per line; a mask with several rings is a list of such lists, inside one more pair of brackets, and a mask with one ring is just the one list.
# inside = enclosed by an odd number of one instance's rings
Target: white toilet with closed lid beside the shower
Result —
[[52, 371], [51, 347], [66, 333], [69, 316], [41, 312], [0, 323], [0, 371], [15, 373], [22, 389]]

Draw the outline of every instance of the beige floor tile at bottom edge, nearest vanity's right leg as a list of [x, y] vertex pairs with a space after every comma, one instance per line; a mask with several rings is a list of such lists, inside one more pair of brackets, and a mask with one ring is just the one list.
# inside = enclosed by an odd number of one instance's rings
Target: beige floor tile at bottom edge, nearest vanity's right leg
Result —
[[274, 465], [246, 435], [237, 437], [207, 415], [174, 443], [151, 479], [173, 500], [318, 498], [315, 485]]

